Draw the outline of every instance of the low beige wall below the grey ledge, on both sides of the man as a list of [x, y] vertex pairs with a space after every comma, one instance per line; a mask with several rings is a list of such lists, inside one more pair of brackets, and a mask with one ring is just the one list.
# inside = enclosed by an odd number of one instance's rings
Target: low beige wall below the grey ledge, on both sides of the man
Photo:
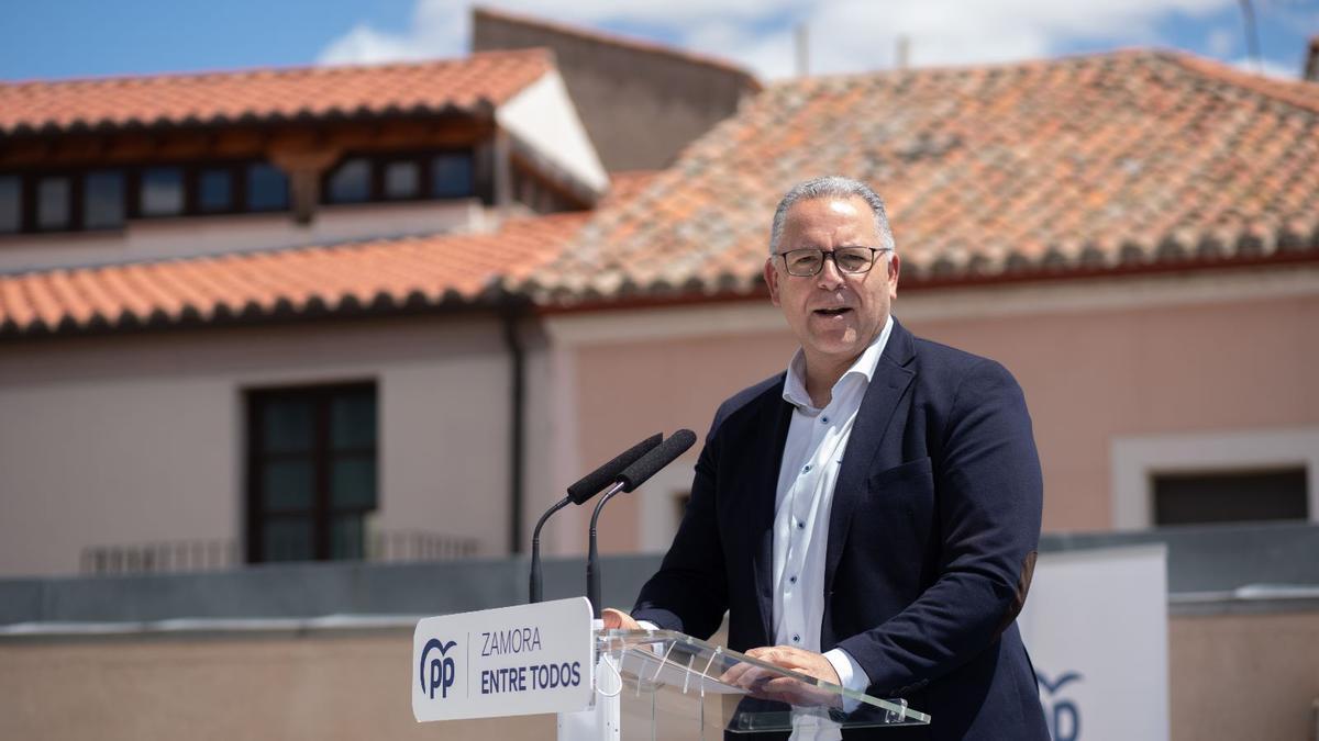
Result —
[[[409, 653], [405, 632], [4, 642], [0, 738], [553, 736], [551, 716], [414, 723]], [[1174, 741], [1312, 733], [1315, 612], [1174, 616], [1169, 653]]]

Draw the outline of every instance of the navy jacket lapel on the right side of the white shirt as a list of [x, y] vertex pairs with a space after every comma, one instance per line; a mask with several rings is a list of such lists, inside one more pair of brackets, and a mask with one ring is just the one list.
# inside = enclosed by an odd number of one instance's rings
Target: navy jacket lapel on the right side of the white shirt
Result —
[[[884, 353], [876, 364], [871, 385], [861, 397], [861, 409], [852, 423], [852, 434], [843, 452], [843, 467], [834, 485], [834, 504], [828, 522], [828, 548], [824, 556], [824, 595], [834, 591], [834, 572], [843, 558], [847, 533], [852, 523], [852, 512], [865, 494], [865, 476], [871, 469], [880, 443], [889, 429], [893, 413], [897, 411], [902, 394], [906, 393], [915, 370], [909, 365], [915, 356], [915, 341], [902, 324], [893, 320], [893, 332], [884, 347]], [[782, 447], [780, 447], [782, 451]], [[782, 452], [780, 452], [782, 455]]]

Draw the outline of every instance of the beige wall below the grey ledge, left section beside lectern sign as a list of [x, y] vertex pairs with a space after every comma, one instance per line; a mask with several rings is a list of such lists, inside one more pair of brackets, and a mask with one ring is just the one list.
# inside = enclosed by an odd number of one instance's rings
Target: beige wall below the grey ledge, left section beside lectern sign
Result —
[[0, 738], [539, 741], [554, 716], [418, 724], [410, 633], [0, 645]]

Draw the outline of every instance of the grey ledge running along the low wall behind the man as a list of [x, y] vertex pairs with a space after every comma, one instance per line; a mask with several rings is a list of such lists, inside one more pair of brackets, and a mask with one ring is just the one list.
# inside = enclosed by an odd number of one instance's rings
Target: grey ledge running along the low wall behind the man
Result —
[[[1041, 552], [1057, 554], [1165, 543], [1170, 614], [1319, 609], [1319, 525], [1177, 527], [1142, 533], [1049, 534]], [[630, 605], [660, 566], [660, 555], [603, 559], [604, 601]], [[389, 616], [467, 612], [526, 601], [525, 558], [434, 563], [298, 563], [222, 572], [0, 580], [0, 633], [36, 634], [78, 625], [102, 634], [135, 626], [141, 634], [179, 630], [321, 630], [334, 616], [361, 621]], [[545, 597], [586, 593], [580, 558], [543, 564]], [[1272, 585], [1272, 587], [1270, 587]], [[326, 617], [331, 616], [331, 617]], [[273, 621], [273, 622], [272, 622]], [[120, 626], [120, 628], [111, 628]], [[222, 628], [223, 626], [223, 628]], [[245, 628], [244, 628], [245, 626]]]

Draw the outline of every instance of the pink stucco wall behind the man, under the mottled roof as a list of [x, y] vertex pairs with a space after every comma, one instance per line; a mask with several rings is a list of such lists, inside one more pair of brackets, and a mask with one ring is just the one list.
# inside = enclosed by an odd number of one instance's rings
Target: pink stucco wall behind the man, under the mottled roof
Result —
[[[896, 314], [902, 318], [901, 301]], [[1319, 423], [1312, 294], [905, 324], [1016, 374], [1035, 425], [1049, 531], [1112, 526], [1115, 436]], [[703, 434], [723, 398], [781, 370], [794, 347], [786, 330], [579, 347], [584, 460], [604, 460], [620, 442], [660, 429]], [[636, 502], [611, 508], [605, 550], [633, 550]]]

